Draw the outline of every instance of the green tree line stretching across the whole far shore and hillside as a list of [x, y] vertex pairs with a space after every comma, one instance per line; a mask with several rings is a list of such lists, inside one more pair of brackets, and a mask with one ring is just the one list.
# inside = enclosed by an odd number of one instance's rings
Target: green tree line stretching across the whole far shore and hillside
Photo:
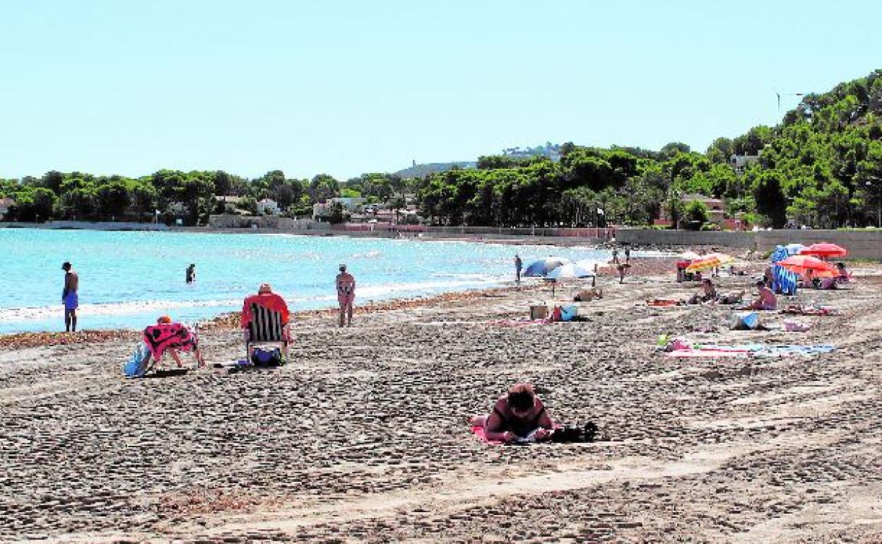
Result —
[[[477, 168], [454, 168], [415, 180], [364, 174], [340, 183], [330, 175], [288, 179], [280, 170], [256, 179], [223, 171], [161, 170], [127, 178], [49, 172], [40, 178], [0, 180], [0, 196], [16, 205], [11, 220], [169, 217], [175, 206], [187, 224], [229, 211], [215, 196], [242, 197], [236, 206], [256, 212], [273, 198], [285, 214], [303, 216], [330, 197], [366, 197], [401, 206], [415, 194], [420, 214], [438, 225], [650, 225], [664, 215], [698, 227], [700, 203], [682, 196], [721, 198], [729, 216], [784, 227], [863, 227], [882, 224], [882, 71], [807, 94], [774, 126], [737, 138], [717, 138], [704, 153], [670, 143], [658, 152], [637, 147], [567, 143], [560, 160], [543, 156], [480, 157]], [[733, 155], [755, 158], [736, 172]], [[174, 212], [182, 212], [175, 210]]]

